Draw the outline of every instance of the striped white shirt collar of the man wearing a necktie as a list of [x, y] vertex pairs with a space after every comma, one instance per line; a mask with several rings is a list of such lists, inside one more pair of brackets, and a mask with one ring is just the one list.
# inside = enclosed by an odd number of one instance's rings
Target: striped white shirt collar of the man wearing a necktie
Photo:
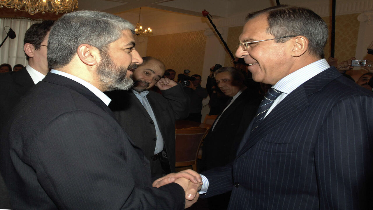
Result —
[[325, 59], [320, 59], [280, 79], [273, 88], [283, 93], [290, 94], [305, 81], [328, 68], [330, 68], [330, 66], [327, 61]]

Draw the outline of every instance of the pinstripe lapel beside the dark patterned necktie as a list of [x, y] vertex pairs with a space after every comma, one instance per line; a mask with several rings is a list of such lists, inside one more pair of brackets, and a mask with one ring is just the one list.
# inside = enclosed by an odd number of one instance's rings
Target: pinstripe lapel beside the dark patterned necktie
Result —
[[[250, 133], [250, 136], [248, 136], [249, 131], [246, 132], [245, 137], [247, 138], [247, 142], [244, 143], [241, 151], [238, 152], [238, 156], [255, 145], [261, 137], [297, 116], [298, 113], [309, 106], [309, 95], [320, 91], [327, 83], [339, 76], [341, 76], [341, 74], [334, 68], [329, 68], [293, 90], [285, 99], [276, 105], [263, 121], [261, 121], [259, 126]], [[251, 126], [249, 126], [249, 129], [251, 129], [250, 127]]]

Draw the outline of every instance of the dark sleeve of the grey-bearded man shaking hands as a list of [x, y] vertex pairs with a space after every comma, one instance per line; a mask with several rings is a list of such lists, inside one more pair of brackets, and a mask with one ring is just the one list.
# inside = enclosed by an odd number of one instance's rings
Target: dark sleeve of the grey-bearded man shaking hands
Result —
[[120, 126], [108, 120], [71, 111], [32, 141], [29, 164], [58, 209], [184, 209], [181, 186], [153, 188], [139, 181], [150, 176], [144, 173], [150, 173], [148, 166], [139, 161]]

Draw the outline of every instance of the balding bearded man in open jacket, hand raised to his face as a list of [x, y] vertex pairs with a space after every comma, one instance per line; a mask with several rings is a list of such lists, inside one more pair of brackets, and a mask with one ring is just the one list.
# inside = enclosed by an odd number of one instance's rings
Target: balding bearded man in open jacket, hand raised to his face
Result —
[[[109, 108], [150, 161], [152, 179], [175, 171], [175, 120], [188, 116], [189, 97], [180, 83], [162, 78], [164, 64], [144, 57], [133, 74], [131, 90], [107, 92]], [[151, 91], [156, 86], [162, 95]]]

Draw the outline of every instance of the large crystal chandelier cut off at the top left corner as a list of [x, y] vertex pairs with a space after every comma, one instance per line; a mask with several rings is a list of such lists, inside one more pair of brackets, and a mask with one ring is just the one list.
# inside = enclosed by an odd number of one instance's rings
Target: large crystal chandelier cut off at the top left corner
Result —
[[41, 12], [64, 13], [78, 8], [78, 0], [0, 0], [0, 8], [3, 6], [14, 8], [14, 11], [26, 11], [30, 15]]

